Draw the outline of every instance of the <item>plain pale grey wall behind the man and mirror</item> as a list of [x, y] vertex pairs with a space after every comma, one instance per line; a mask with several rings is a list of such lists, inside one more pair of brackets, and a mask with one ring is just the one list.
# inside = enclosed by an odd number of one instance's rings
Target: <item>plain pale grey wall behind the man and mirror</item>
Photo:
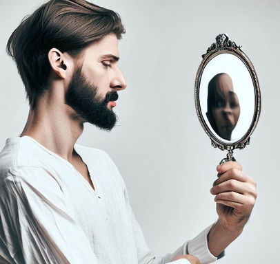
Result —
[[[21, 133], [28, 102], [6, 42], [42, 1], [1, 0], [0, 148]], [[225, 151], [212, 148], [194, 107], [201, 55], [227, 33], [243, 45], [257, 71], [262, 111], [249, 146], [234, 151], [258, 184], [243, 234], [219, 264], [279, 263], [279, 0], [96, 0], [119, 12], [127, 33], [119, 42], [128, 87], [119, 93], [121, 125], [112, 132], [86, 125], [79, 144], [101, 148], [117, 164], [130, 203], [155, 254], [174, 251], [217, 219], [216, 166]]]

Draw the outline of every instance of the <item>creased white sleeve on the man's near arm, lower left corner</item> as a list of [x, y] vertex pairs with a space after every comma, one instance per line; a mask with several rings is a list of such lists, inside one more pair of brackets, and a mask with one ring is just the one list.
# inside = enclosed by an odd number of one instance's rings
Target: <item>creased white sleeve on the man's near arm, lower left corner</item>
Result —
[[0, 243], [12, 263], [98, 263], [70, 203], [46, 170], [10, 168], [0, 208]]

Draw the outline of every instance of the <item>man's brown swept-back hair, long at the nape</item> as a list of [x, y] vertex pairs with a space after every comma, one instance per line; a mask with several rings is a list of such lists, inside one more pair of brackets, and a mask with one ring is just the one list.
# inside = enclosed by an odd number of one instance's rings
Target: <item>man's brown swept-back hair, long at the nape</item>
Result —
[[48, 88], [53, 47], [77, 56], [90, 43], [114, 33], [125, 33], [119, 14], [85, 0], [51, 0], [25, 17], [7, 43], [7, 53], [17, 63], [30, 107]]

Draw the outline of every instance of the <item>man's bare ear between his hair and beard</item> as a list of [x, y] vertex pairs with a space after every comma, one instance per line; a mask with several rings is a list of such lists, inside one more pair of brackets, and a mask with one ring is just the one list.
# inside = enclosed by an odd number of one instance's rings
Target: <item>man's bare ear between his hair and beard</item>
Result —
[[50, 63], [50, 67], [57, 74], [60, 78], [66, 78], [66, 69], [67, 69], [67, 62], [66, 58], [60, 50], [56, 48], [52, 48], [48, 52], [48, 61]]

